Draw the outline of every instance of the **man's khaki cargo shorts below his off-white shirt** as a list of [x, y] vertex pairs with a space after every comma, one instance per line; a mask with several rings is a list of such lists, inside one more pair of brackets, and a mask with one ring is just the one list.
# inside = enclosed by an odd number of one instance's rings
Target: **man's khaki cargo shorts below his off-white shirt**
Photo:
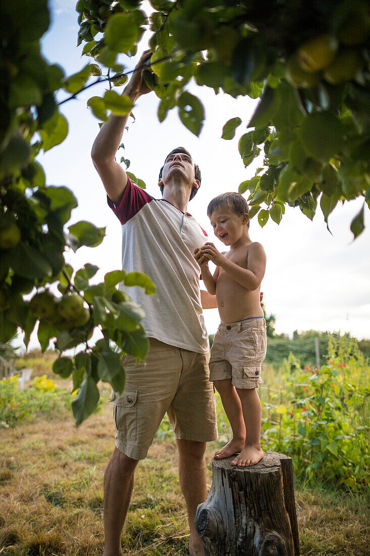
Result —
[[144, 459], [167, 411], [177, 439], [216, 440], [216, 405], [209, 383], [209, 354], [149, 338], [146, 364], [125, 355], [126, 388], [113, 400], [118, 450]]

